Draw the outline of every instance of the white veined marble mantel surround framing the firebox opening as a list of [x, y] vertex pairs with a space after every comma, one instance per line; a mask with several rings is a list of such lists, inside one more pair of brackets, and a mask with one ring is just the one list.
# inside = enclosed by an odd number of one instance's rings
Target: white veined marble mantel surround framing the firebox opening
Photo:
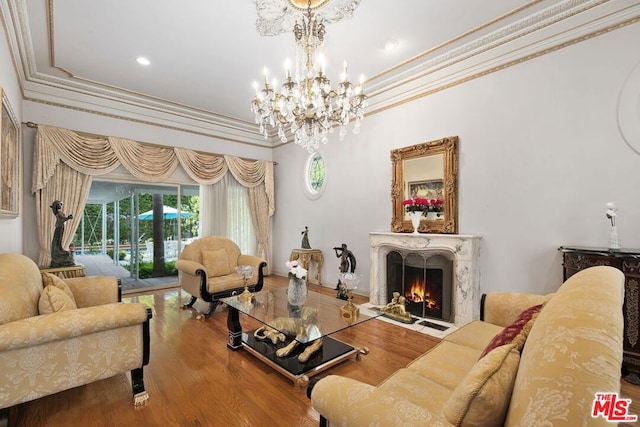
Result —
[[453, 319], [462, 326], [480, 317], [480, 236], [462, 234], [369, 233], [371, 291], [369, 302], [387, 304], [387, 254], [394, 250], [428, 252], [453, 261]]

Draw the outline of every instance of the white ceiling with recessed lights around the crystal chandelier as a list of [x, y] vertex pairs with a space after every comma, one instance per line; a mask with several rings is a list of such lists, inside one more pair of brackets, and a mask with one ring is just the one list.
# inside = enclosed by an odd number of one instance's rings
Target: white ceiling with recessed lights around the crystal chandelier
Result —
[[[293, 35], [261, 36], [255, 0], [0, 1], [12, 17], [7, 27], [19, 51], [26, 99], [87, 111], [108, 106], [118, 110], [116, 116], [151, 111], [145, 113], [151, 122], [167, 113], [176, 124], [195, 123], [212, 136], [231, 132], [250, 143], [272, 142], [253, 123], [252, 83], [261, 81], [265, 66], [282, 81]], [[425, 90], [424, 81], [408, 76], [422, 70], [442, 80], [437, 64], [455, 56], [446, 64], [451, 68], [469, 56], [479, 58], [477, 40], [504, 50], [533, 32], [524, 33], [524, 25], [534, 28], [537, 22], [534, 29], [541, 32], [566, 20], [544, 21], [548, 10], [577, 16], [579, 8], [601, 3], [607, 2], [360, 0], [351, 18], [327, 25], [328, 75], [335, 82], [347, 60], [352, 81], [360, 74], [367, 79], [365, 93], [375, 110]], [[504, 38], [519, 31], [518, 37]], [[389, 40], [398, 47], [385, 51]], [[139, 65], [138, 56], [151, 65]]]

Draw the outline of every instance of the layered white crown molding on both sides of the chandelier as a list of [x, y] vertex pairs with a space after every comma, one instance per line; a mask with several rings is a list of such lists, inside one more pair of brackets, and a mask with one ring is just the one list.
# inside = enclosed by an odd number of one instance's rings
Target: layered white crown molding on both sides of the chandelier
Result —
[[[25, 100], [274, 148], [254, 123], [73, 76], [36, 69], [26, 0], [0, 0], [14, 66]], [[637, 0], [535, 0], [436, 46], [365, 82], [367, 116], [428, 96], [592, 37], [638, 22]], [[65, 73], [65, 74], [68, 74]]]

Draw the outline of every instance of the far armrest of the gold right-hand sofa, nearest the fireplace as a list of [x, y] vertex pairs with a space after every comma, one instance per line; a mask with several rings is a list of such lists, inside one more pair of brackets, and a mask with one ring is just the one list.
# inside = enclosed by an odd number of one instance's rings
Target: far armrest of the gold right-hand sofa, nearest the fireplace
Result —
[[482, 295], [480, 320], [498, 326], [513, 323], [527, 308], [544, 304], [553, 294], [537, 295], [519, 292], [490, 292]]

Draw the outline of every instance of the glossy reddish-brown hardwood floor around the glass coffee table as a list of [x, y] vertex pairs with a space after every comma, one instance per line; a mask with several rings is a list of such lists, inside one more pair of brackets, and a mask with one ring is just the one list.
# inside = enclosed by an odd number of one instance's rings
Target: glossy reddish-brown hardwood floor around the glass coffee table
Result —
[[[265, 286], [286, 286], [287, 279], [268, 277]], [[318, 288], [335, 295], [330, 288]], [[305, 389], [245, 351], [231, 351], [227, 312], [219, 307], [207, 320], [181, 310], [186, 294], [177, 289], [127, 295], [151, 307], [151, 361], [145, 367], [150, 399], [132, 404], [128, 374], [43, 397], [11, 409], [15, 426], [317, 426], [318, 414]], [[355, 301], [365, 302], [358, 297]], [[241, 315], [244, 327], [250, 319]], [[334, 335], [371, 352], [327, 373], [378, 384], [438, 343], [432, 338], [381, 321], [365, 322]], [[640, 386], [622, 381], [622, 396], [632, 399], [631, 413], [640, 415]], [[630, 426], [632, 424], [623, 424]], [[636, 423], [633, 425], [640, 425]]]

